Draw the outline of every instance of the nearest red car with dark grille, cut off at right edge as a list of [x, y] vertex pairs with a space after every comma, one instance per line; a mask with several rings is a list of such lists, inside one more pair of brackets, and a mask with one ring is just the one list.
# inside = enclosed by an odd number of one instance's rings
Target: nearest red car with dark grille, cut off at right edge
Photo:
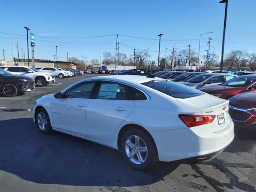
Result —
[[229, 101], [229, 114], [234, 124], [256, 131], [256, 91], [238, 94]]

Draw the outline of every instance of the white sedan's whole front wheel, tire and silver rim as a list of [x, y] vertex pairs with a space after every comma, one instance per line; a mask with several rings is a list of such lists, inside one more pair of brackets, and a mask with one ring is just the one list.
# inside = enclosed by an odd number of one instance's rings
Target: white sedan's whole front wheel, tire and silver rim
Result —
[[36, 124], [41, 133], [48, 134], [52, 131], [52, 126], [48, 113], [44, 108], [40, 108], [36, 112]]

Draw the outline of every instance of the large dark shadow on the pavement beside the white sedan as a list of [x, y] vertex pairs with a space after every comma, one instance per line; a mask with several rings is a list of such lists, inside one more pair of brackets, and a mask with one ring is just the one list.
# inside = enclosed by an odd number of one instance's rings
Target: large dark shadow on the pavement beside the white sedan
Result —
[[0, 121], [1, 181], [8, 173], [42, 184], [144, 186], [164, 180], [180, 163], [132, 170], [112, 148], [60, 132], [41, 134], [32, 118]]

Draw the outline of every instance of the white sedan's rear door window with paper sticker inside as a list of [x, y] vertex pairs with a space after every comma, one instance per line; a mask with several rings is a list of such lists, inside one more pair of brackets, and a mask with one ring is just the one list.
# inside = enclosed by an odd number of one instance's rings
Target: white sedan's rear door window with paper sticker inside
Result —
[[132, 87], [110, 81], [102, 81], [96, 99], [134, 100]]

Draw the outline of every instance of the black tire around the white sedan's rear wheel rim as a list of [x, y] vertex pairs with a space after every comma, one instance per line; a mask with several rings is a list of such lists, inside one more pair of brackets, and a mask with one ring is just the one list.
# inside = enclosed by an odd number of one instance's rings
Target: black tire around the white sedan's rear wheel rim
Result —
[[[136, 163], [132, 162], [132, 160], [130, 160], [130, 158], [128, 157], [128, 155], [126, 153], [126, 149], [127, 149], [126, 148], [126, 140], [129, 137], [133, 137], [133, 136], [140, 137], [140, 139], [142, 139], [144, 144], [146, 144], [147, 156], [145, 158], [145, 161], [141, 164], [136, 164]], [[131, 148], [129, 148], [129, 149], [131, 149]], [[152, 139], [152, 137], [146, 131], [144, 131], [140, 128], [137, 128], [137, 127], [130, 128], [122, 134], [122, 137], [121, 137], [121, 153], [122, 153], [122, 156], [125, 159], [125, 161], [134, 170], [148, 170], [149, 168], [154, 166], [154, 164], [156, 164], [156, 162], [158, 161], [158, 156], [157, 156], [157, 151], [156, 151], [154, 140]], [[144, 154], [145, 154], [145, 152], [144, 152]], [[137, 154], [135, 154], [134, 158], [132, 158], [132, 159], [136, 160], [136, 158], [138, 159]]]

